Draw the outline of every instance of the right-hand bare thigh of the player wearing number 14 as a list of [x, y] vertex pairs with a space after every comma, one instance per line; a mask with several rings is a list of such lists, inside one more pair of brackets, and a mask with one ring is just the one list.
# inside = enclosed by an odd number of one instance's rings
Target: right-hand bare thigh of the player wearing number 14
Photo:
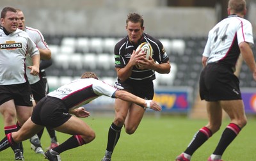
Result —
[[243, 127], [246, 123], [243, 100], [225, 100], [221, 101], [221, 107], [227, 112], [232, 123]]

